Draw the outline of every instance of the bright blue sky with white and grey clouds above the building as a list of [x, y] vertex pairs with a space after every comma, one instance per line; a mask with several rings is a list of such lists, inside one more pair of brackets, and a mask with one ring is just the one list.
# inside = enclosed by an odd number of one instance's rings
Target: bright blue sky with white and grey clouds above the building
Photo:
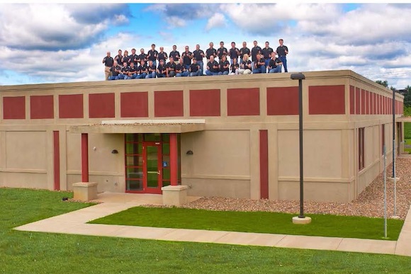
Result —
[[152, 43], [288, 46], [289, 72], [351, 69], [411, 85], [411, 4], [0, 4], [0, 84], [104, 79], [106, 51]]

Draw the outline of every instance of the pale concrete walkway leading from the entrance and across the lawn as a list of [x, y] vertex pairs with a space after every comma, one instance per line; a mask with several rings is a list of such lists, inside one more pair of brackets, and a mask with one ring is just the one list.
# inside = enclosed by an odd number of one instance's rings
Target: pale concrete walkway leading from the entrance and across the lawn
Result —
[[[198, 198], [188, 197], [189, 201]], [[130, 227], [110, 224], [86, 224], [137, 205], [162, 205], [161, 195], [138, 195], [127, 193], [101, 193], [98, 205], [74, 212], [50, 217], [38, 222], [16, 227], [16, 230], [81, 234], [93, 236], [115, 236], [135, 239], [164, 241], [193, 241], [202, 243], [240, 244], [252, 246], [275, 246], [294, 249], [321, 249], [364, 253], [384, 253], [411, 256], [411, 207], [405, 219], [398, 241], [350, 239], [322, 236], [298, 236], [249, 232], [224, 232], [199, 229], [171, 229], [158, 227]], [[291, 222], [291, 219], [290, 219]]]

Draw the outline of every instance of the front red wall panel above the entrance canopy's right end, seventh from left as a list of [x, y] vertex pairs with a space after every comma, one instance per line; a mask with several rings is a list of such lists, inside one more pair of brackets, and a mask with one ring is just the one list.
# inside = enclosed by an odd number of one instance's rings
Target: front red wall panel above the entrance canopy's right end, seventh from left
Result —
[[190, 116], [220, 116], [220, 89], [190, 90]]

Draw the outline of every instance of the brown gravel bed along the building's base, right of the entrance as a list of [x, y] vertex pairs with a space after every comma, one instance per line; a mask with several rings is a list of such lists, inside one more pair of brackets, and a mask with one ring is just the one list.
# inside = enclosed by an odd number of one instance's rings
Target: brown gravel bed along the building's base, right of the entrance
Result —
[[[400, 181], [397, 185], [397, 216], [405, 219], [411, 204], [411, 159], [399, 158], [395, 171]], [[387, 177], [392, 176], [392, 165], [387, 168]], [[388, 217], [394, 215], [394, 183], [387, 180]], [[236, 198], [205, 197], [182, 205], [184, 208], [219, 211], [266, 211], [300, 212], [299, 201], [249, 200]], [[346, 216], [384, 217], [383, 174], [380, 174], [353, 202], [304, 202], [305, 214], [332, 214]]]

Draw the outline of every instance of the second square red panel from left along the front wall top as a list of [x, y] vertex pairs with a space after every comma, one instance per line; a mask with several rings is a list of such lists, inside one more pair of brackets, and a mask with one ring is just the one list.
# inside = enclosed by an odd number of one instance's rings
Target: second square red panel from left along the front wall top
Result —
[[52, 119], [55, 118], [52, 95], [30, 96], [30, 118]]

